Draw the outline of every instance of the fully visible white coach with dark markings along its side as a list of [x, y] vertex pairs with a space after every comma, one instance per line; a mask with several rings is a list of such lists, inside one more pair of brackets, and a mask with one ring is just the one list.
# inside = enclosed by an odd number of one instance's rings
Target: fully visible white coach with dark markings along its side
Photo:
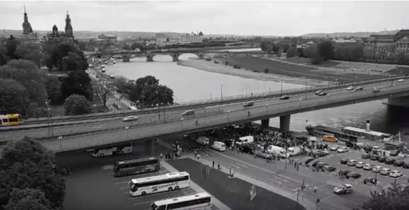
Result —
[[129, 182], [129, 193], [132, 196], [173, 191], [189, 187], [190, 179], [187, 172], [167, 173], [153, 177], [133, 179]]

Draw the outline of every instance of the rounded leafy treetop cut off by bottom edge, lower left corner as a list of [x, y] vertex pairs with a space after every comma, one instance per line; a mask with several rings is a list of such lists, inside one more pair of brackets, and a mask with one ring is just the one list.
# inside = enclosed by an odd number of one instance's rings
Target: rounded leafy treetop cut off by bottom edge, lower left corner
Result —
[[48, 210], [51, 209], [49, 200], [39, 189], [12, 189], [10, 200], [5, 210]]

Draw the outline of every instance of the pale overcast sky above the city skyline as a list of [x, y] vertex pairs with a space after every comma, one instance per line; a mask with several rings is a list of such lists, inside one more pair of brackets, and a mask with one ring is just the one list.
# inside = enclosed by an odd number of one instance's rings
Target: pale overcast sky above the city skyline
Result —
[[[409, 1], [26, 1], [33, 30], [303, 35], [409, 28]], [[0, 1], [0, 28], [22, 29], [23, 1]]]

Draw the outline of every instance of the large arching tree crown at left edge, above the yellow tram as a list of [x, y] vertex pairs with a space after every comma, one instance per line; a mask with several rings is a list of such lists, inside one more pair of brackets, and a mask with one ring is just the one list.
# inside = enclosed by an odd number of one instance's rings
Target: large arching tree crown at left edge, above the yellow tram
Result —
[[28, 92], [31, 103], [43, 105], [48, 98], [44, 86], [46, 73], [29, 60], [10, 60], [0, 67], [0, 78], [10, 78], [20, 82]]

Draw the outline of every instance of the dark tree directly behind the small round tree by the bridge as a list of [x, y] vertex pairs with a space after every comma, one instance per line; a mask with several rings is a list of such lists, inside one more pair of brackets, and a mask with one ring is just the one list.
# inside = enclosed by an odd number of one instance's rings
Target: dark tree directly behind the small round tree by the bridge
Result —
[[90, 76], [83, 70], [69, 71], [68, 77], [62, 81], [61, 92], [62, 98], [78, 94], [91, 100], [92, 87]]

